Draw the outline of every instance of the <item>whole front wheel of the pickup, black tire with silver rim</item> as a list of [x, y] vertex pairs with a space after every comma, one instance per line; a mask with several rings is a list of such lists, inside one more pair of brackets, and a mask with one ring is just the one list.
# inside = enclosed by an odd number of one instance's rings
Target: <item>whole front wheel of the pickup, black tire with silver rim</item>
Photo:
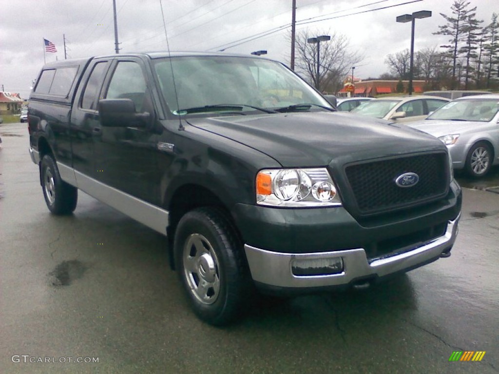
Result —
[[243, 246], [224, 213], [210, 207], [186, 213], [175, 232], [174, 253], [196, 315], [215, 326], [234, 321], [252, 291]]

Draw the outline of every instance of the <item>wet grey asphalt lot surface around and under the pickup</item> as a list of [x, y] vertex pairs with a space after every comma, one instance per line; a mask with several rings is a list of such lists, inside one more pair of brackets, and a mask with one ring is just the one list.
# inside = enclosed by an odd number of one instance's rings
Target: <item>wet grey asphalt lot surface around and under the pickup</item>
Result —
[[463, 180], [476, 189], [450, 258], [214, 328], [191, 313], [164, 237], [81, 192], [72, 216], [49, 214], [26, 125], [0, 136], [0, 373], [499, 373], [497, 168]]

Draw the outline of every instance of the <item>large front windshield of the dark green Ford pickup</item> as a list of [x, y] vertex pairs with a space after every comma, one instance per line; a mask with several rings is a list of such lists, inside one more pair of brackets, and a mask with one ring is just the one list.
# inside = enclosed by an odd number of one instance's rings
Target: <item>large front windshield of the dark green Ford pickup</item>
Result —
[[157, 59], [154, 66], [163, 97], [174, 115], [199, 115], [203, 107], [206, 113], [220, 113], [224, 105], [228, 112], [234, 112], [230, 105], [239, 105], [255, 113], [331, 108], [313, 88], [275, 61], [182, 56], [171, 57], [171, 62], [170, 58]]

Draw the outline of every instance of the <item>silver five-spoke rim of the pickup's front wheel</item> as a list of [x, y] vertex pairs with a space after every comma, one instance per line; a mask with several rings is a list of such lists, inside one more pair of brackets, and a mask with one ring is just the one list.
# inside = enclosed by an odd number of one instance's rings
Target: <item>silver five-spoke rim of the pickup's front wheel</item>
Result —
[[219, 261], [208, 239], [191, 234], [183, 257], [184, 275], [193, 296], [205, 305], [215, 303], [220, 293]]

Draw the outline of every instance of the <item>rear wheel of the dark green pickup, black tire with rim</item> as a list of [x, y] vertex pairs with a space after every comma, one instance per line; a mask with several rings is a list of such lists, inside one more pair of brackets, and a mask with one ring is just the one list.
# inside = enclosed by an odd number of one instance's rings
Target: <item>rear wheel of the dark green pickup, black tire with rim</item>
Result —
[[78, 202], [78, 189], [61, 180], [57, 164], [50, 155], [40, 164], [41, 189], [48, 210], [53, 214], [70, 214]]

